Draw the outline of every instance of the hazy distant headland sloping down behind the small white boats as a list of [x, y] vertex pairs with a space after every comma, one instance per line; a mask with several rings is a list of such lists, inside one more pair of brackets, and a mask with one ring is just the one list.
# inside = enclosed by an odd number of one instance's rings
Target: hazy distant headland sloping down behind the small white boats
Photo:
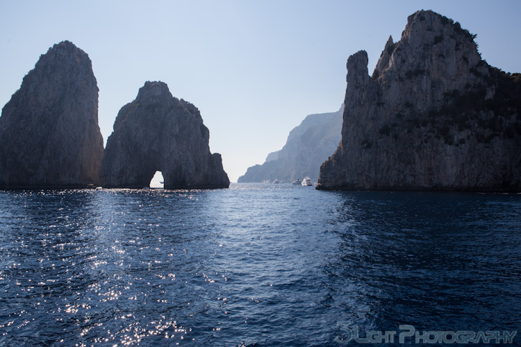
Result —
[[316, 182], [320, 164], [335, 151], [340, 142], [343, 111], [344, 105], [337, 112], [308, 115], [299, 126], [291, 130], [280, 151], [267, 155], [264, 164], [249, 167], [238, 182], [278, 179], [291, 183], [306, 176]]

